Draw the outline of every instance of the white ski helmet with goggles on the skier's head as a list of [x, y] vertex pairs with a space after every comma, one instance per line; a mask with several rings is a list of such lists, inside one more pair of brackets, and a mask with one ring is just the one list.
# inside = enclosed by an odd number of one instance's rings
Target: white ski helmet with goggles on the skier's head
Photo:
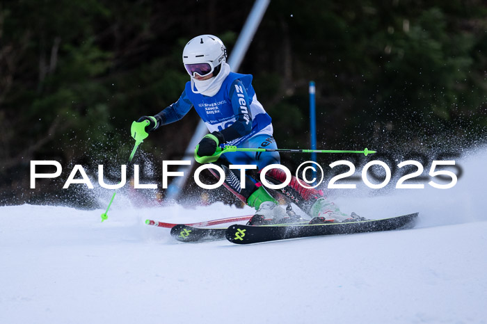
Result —
[[183, 63], [189, 75], [205, 76], [220, 72], [227, 58], [227, 48], [214, 35], [200, 35], [188, 42], [183, 50]]

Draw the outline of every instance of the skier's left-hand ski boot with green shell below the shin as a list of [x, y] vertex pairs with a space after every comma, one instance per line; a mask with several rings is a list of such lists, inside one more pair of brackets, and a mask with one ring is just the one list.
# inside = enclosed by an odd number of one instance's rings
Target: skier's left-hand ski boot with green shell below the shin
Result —
[[248, 220], [247, 225], [271, 225], [289, 222], [298, 222], [301, 217], [296, 215], [292, 206], [287, 205], [286, 210], [278, 204], [264, 187], [259, 187], [247, 200], [248, 206], [255, 207], [255, 215]]

